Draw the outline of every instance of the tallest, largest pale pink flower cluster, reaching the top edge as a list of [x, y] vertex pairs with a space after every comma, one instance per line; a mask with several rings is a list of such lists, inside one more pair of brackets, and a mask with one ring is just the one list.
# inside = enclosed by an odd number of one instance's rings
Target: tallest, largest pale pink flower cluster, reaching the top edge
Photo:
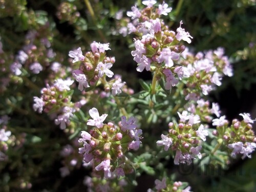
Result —
[[137, 71], [145, 69], [155, 72], [155, 77], [158, 80], [163, 78], [166, 82], [165, 89], [170, 90], [186, 76], [183, 67], [178, 65], [180, 54], [185, 50], [180, 41], [190, 43], [190, 38], [193, 37], [181, 27], [182, 21], [176, 33], [169, 30], [160, 19], [161, 15], [167, 15], [172, 10], [166, 3], [159, 4], [158, 8], [154, 7], [156, 1], [143, 1], [142, 4], [147, 7], [139, 10], [134, 6], [132, 11], [127, 12], [128, 16], [136, 19], [136, 25], [130, 23], [128, 26], [132, 26], [133, 30], [130, 31], [138, 35], [135, 40], [136, 50], [132, 51], [134, 60], [138, 63]]

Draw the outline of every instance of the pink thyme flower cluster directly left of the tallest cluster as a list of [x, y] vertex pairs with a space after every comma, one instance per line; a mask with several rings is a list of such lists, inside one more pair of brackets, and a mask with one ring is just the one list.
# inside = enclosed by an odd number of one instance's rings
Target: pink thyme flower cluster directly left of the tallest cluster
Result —
[[[99, 42], [93, 42], [91, 44], [90, 52], [87, 52], [85, 56], [82, 54], [79, 47], [75, 51], [70, 51], [69, 56], [74, 58], [73, 63], [81, 61], [78, 69], [73, 70], [72, 74], [76, 81], [78, 81], [78, 89], [80, 91], [87, 88], [96, 87], [102, 83], [105, 92], [110, 92], [112, 95], [121, 93], [125, 82], [121, 81], [121, 77], [114, 78], [110, 81], [106, 81], [105, 77], [113, 77], [114, 73], [110, 70], [115, 62], [114, 57], [106, 57], [106, 50], [110, 50], [109, 44], [101, 44]], [[76, 65], [74, 66], [74, 68]], [[91, 88], [92, 89], [92, 88]]]

